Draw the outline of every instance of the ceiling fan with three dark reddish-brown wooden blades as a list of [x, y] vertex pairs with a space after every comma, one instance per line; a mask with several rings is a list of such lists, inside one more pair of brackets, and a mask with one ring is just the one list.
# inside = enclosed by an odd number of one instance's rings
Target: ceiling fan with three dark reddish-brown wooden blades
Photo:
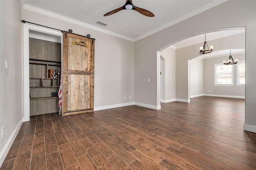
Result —
[[104, 16], [112, 15], [112, 14], [114, 14], [114, 13], [120, 11], [120, 10], [135, 10], [135, 11], [138, 11], [138, 12], [140, 12], [140, 14], [145, 15], [145, 16], [149, 16], [149, 17], [155, 16], [152, 12], [135, 6], [132, 3], [132, 0], [126, 0], [126, 3], [124, 4], [124, 6], [122, 6], [120, 8], [117, 8], [115, 10], [112, 10], [112, 11], [104, 14]]

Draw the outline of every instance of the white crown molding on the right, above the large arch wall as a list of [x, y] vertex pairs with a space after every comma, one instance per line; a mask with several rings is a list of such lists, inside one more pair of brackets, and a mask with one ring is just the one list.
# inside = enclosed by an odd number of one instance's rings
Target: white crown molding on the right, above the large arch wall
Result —
[[209, 4], [206, 4], [205, 6], [202, 6], [202, 7], [198, 8], [198, 9], [196, 9], [196, 10], [194, 10], [194, 11], [192, 11], [192, 12], [190, 12], [190, 13], [184, 15], [184, 16], [181, 16], [180, 18], [177, 18], [176, 20], [173, 20], [173, 21], [171, 21], [171, 22], [168, 22], [167, 24], [164, 24], [164, 25], [162, 25], [162, 26], [160, 26], [160, 27], [158, 27], [158, 28], [156, 28], [156, 29], [154, 29], [154, 30], [152, 30], [152, 31], [150, 31], [150, 32], [147, 32], [146, 34], [141, 35], [141, 36], [138, 37], [138, 38], [135, 38], [134, 41], [136, 42], [136, 41], [138, 41], [138, 40], [141, 40], [141, 39], [143, 39], [143, 38], [146, 38], [147, 36], [150, 36], [150, 35], [152, 35], [152, 34], [155, 34], [156, 32], [159, 32], [159, 31], [161, 31], [161, 30], [164, 30], [165, 28], [168, 28], [168, 27], [170, 27], [170, 26], [173, 26], [174, 24], [177, 24], [177, 23], [179, 23], [179, 22], [182, 22], [182, 21], [184, 21], [184, 20], [186, 20], [186, 19], [188, 19], [188, 18], [191, 18], [192, 16], [195, 16], [195, 15], [197, 15], [197, 14], [200, 14], [201, 12], [204, 12], [204, 11], [206, 11], [206, 10], [209, 10], [210, 8], [213, 8], [214, 6], [218, 6], [218, 5], [220, 5], [220, 4], [222, 4], [222, 3], [226, 2], [226, 1], [228, 1], [228, 0], [214, 0], [213, 2], [211, 2], [211, 3], [209, 3]]

